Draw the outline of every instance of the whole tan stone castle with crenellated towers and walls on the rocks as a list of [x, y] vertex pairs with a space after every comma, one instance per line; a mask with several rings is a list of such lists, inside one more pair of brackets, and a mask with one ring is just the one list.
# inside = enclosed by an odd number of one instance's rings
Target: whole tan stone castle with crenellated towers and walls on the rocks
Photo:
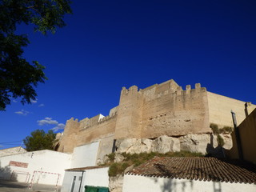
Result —
[[[256, 108], [249, 102], [246, 106], [248, 113]], [[119, 105], [108, 116], [67, 120], [56, 150], [72, 153], [74, 147], [96, 141], [100, 141], [99, 150], [106, 150], [122, 138], [210, 134], [211, 123], [233, 126], [230, 110], [236, 113], [238, 124], [246, 118], [245, 102], [211, 93], [200, 83], [186, 90], [173, 79], [141, 90], [123, 87]]]

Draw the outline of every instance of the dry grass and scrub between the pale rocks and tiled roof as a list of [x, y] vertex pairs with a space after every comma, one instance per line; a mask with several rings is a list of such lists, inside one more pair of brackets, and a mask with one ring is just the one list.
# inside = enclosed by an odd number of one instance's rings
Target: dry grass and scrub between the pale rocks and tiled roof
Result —
[[126, 154], [122, 153], [124, 160], [122, 162], [114, 162], [114, 153], [108, 154], [110, 161], [107, 162], [106, 166], [110, 166], [109, 169], [109, 176], [114, 177], [118, 174], [124, 174], [124, 171], [129, 166], [139, 166], [144, 162], [147, 162], [151, 158], [155, 156], [158, 157], [203, 157], [201, 153], [191, 153], [188, 151], [181, 151], [181, 152], [168, 152], [166, 154], [160, 154], [158, 152], [151, 152], [151, 153], [142, 153], [142, 154]]

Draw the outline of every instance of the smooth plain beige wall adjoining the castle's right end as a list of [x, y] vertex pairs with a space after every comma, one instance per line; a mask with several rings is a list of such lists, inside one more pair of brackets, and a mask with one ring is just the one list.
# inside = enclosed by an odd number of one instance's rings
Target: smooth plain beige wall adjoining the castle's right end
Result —
[[[228, 98], [219, 94], [207, 92], [209, 104], [210, 123], [233, 127], [230, 111], [236, 114], [238, 125], [246, 118], [245, 103], [234, 98]], [[248, 112], [255, 109], [255, 105], [248, 106]]]

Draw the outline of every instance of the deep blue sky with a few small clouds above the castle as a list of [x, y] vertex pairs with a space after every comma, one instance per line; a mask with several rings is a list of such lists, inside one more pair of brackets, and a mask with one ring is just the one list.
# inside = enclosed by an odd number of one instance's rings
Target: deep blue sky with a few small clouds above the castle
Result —
[[[74, 1], [56, 34], [31, 32], [24, 58], [46, 66], [38, 98], [0, 112], [0, 149], [37, 129], [107, 115], [122, 86], [174, 79], [256, 104], [256, 2]], [[58, 130], [62, 131], [62, 130]], [[6, 143], [9, 142], [9, 143]], [[10, 143], [12, 142], [12, 143]]]

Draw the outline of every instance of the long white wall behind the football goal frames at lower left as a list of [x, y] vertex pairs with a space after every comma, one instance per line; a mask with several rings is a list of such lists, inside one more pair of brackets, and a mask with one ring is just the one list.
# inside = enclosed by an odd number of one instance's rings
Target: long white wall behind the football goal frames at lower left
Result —
[[[27, 167], [12, 166], [12, 162], [27, 164]], [[34, 171], [44, 171], [61, 174], [58, 184], [62, 184], [65, 169], [70, 168], [71, 154], [64, 154], [53, 150], [38, 150], [23, 154], [14, 154], [0, 158], [0, 179], [15, 179], [18, 182], [31, 182]], [[23, 164], [24, 165], [24, 164]], [[28, 174], [26, 174], [28, 173]], [[38, 183], [55, 185], [58, 178], [54, 174], [38, 173]]]

